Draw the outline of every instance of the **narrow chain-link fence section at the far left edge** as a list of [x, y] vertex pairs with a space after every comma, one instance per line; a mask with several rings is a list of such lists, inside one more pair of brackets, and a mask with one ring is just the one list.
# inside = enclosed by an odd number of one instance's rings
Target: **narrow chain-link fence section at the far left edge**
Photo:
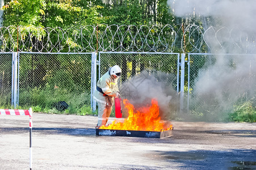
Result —
[[11, 104], [12, 53], [0, 53], [0, 105]]

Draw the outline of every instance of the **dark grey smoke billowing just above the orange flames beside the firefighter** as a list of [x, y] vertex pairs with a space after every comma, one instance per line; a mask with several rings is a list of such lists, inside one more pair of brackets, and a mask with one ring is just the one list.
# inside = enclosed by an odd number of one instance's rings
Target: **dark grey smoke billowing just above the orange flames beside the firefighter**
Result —
[[177, 109], [177, 92], [173, 89], [176, 75], [161, 71], [142, 71], [133, 76], [120, 87], [121, 96], [128, 99], [135, 108], [158, 101], [161, 117], [172, 118]]

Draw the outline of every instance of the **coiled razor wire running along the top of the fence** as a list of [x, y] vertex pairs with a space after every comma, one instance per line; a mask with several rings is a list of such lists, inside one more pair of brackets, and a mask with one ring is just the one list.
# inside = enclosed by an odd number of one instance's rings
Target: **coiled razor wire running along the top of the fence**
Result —
[[255, 35], [201, 25], [85, 25], [79, 28], [0, 27], [0, 52], [214, 52], [255, 53]]

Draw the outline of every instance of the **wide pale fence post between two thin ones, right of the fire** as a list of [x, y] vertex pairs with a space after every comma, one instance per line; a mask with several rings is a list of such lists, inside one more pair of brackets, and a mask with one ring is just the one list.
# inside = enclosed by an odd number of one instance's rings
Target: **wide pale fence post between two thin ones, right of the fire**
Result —
[[185, 53], [181, 54], [181, 101], [180, 101], [180, 112], [183, 111], [183, 101], [184, 101], [184, 76], [185, 76]]

